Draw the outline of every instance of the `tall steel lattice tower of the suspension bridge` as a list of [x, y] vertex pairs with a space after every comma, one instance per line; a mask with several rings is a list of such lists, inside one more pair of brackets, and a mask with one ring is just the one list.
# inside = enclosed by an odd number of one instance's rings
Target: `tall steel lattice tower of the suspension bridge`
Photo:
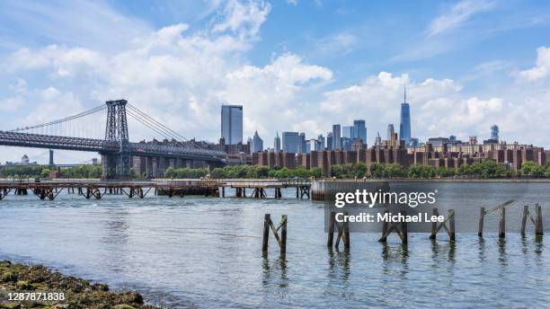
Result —
[[103, 179], [129, 178], [130, 155], [128, 121], [126, 119], [126, 100], [105, 102], [107, 104], [107, 123], [105, 126], [105, 142], [116, 144], [119, 151], [116, 154], [102, 154]]

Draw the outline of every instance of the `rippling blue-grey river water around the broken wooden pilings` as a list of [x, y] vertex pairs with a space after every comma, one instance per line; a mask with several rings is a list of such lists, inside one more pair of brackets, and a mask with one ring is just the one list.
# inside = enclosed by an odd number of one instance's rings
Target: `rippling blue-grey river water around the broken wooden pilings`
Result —
[[[548, 226], [548, 183], [422, 185], [447, 192], [441, 202], [457, 209], [457, 222], [476, 223], [480, 206], [517, 199], [507, 228], [519, 225], [521, 205], [535, 202]], [[379, 234], [351, 234], [349, 252], [330, 250], [324, 204], [295, 194], [86, 200], [62, 193], [54, 201], [10, 195], [0, 201], [0, 259], [135, 289], [169, 308], [548, 306], [548, 233], [537, 240], [529, 229], [525, 238], [509, 233], [501, 241], [496, 219], [488, 218], [483, 239], [458, 227], [456, 243], [445, 234], [435, 243], [428, 234], [409, 234], [406, 247], [395, 235], [382, 244]], [[288, 215], [285, 258], [272, 237], [262, 256], [265, 213], [275, 223]]]

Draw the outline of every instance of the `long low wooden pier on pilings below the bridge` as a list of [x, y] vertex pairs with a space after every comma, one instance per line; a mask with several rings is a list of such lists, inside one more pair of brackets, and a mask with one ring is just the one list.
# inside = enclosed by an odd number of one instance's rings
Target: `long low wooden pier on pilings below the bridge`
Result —
[[[247, 194], [246, 190], [250, 195]], [[126, 195], [129, 199], [144, 199], [147, 194], [169, 198], [186, 195], [205, 197], [231, 197], [229, 190], [235, 190], [236, 198], [281, 199], [282, 189], [296, 189], [297, 199], [310, 199], [311, 181], [307, 179], [279, 180], [150, 180], [150, 181], [101, 181], [101, 180], [0, 180], [0, 200], [10, 193], [29, 195], [33, 193], [42, 200], [54, 200], [59, 193], [75, 193], [85, 199], [102, 199], [105, 195]], [[270, 197], [268, 190], [274, 193]]]

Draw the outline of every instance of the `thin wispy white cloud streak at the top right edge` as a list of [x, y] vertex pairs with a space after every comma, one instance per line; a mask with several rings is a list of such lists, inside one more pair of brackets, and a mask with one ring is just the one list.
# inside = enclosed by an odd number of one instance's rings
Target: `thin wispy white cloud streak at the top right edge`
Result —
[[476, 13], [481, 13], [492, 8], [494, 3], [486, 0], [461, 0], [440, 14], [430, 22], [427, 34], [436, 35], [445, 31], [450, 31], [467, 22]]

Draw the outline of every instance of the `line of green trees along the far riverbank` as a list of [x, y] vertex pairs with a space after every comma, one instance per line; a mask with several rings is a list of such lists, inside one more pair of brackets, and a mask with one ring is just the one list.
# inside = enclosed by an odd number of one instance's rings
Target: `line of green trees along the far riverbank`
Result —
[[[101, 165], [80, 165], [73, 167], [47, 167], [43, 165], [16, 165], [4, 166], [0, 168], [0, 177], [12, 178], [48, 178], [50, 172], [59, 172], [58, 178], [89, 178], [97, 179], [102, 176]], [[147, 178], [146, 173], [137, 175], [132, 169], [132, 178]], [[550, 163], [538, 165], [535, 162], [527, 161], [521, 165], [518, 172], [506, 168], [500, 163], [490, 159], [483, 160], [481, 163], [472, 163], [470, 165], [461, 165], [457, 169], [446, 169], [443, 166], [436, 168], [427, 165], [412, 165], [405, 169], [397, 163], [373, 163], [367, 168], [365, 163], [355, 164], [337, 164], [331, 168], [331, 177], [338, 179], [361, 179], [365, 177], [379, 179], [432, 179], [446, 177], [465, 177], [465, 178], [510, 178], [517, 176], [528, 176], [535, 178], [550, 178]], [[160, 176], [162, 177], [162, 176]], [[217, 167], [212, 171], [207, 168], [168, 168], [164, 172], [167, 178], [202, 178], [211, 177], [216, 179], [223, 178], [322, 178], [323, 170], [313, 168], [307, 170], [303, 166], [297, 166], [293, 169], [286, 167], [267, 167], [259, 165], [232, 165]]]

